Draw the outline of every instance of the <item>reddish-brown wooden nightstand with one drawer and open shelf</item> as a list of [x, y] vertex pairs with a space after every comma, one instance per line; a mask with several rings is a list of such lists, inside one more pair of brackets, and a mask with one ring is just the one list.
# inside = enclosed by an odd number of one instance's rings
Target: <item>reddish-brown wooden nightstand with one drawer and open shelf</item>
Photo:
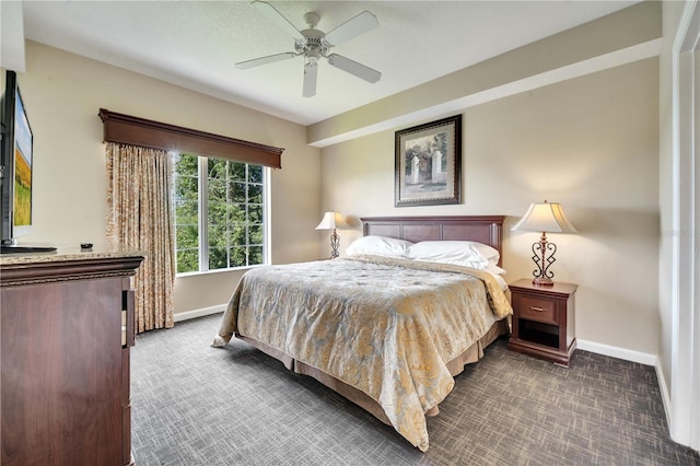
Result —
[[573, 283], [537, 287], [530, 279], [510, 284], [513, 331], [509, 349], [569, 365], [576, 349]]

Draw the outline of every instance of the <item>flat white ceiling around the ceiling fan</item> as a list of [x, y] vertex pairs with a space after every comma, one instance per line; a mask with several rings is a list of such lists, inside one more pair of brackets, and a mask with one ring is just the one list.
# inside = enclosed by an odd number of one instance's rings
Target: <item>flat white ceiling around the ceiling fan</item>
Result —
[[299, 30], [308, 11], [325, 32], [363, 10], [375, 14], [376, 30], [332, 51], [381, 71], [382, 80], [370, 84], [322, 62], [317, 93], [305, 98], [301, 57], [235, 69], [293, 50], [293, 39], [249, 1], [24, 1], [22, 12], [27, 39], [310, 125], [637, 1], [270, 3]]

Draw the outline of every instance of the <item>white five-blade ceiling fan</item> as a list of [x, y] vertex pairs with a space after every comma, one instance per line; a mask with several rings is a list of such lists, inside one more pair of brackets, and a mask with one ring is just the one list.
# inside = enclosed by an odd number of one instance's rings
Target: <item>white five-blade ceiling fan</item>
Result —
[[313, 97], [316, 95], [318, 60], [322, 57], [327, 59], [329, 65], [368, 82], [375, 83], [382, 78], [382, 73], [373, 70], [372, 68], [365, 67], [362, 63], [358, 63], [357, 61], [338, 54], [328, 54], [331, 47], [357, 37], [360, 34], [366, 33], [380, 25], [376, 16], [369, 11], [363, 11], [329, 33], [324, 33], [316, 28], [318, 21], [320, 21], [320, 16], [317, 13], [308, 12], [304, 14], [304, 21], [308, 27], [299, 31], [270, 3], [254, 1], [253, 5], [294, 38], [294, 51], [285, 51], [282, 54], [254, 58], [253, 60], [241, 61], [235, 65], [237, 69], [245, 70], [260, 65], [273, 63], [276, 61], [287, 60], [303, 55], [304, 97]]

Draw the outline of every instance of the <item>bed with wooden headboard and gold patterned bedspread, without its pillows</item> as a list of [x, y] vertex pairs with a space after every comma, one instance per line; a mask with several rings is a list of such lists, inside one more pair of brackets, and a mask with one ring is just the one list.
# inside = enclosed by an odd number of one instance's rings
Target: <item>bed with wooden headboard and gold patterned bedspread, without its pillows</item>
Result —
[[[503, 219], [361, 220], [363, 240], [488, 245], [498, 251], [492, 258], [498, 269]], [[504, 282], [493, 273], [418, 258], [358, 254], [252, 269], [236, 286], [213, 346], [235, 336], [427, 451], [425, 416], [439, 412], [465, 364], [477, 362], [488, 345], [508, 334], [512, 310]]]

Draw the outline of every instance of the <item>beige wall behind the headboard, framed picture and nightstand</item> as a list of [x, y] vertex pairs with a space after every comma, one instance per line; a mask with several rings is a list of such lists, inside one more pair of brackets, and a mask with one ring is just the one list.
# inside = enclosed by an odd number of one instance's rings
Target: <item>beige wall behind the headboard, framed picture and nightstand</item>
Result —
[[[394, 130], [327, 147], [322, 206], [351, 220], [506, 214], [510, 230], [530, 202], [559, 201], [580, 231], [550, 235], [559, 247], [555, 279], [580, 284], [578, 337], [655, 354], [657, 70], [658, 60], [646, 59], [464, 109], [456, 206], [394, 208]], [[354, 225], [341, 232], [342, 249], [360, 235]], [[509, 281], [530, 275], [537, 237], [505, 232]]]

